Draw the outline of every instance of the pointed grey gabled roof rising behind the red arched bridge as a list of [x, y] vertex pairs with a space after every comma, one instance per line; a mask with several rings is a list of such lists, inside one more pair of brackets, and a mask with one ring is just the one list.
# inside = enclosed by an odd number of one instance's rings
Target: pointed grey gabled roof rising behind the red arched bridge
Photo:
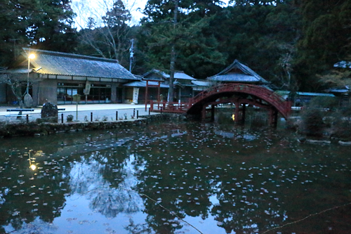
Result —
[[258, 83], [268, 84], [265, 79], [260, 77], [259, 74], [253, 72], [250, 67], [239, 63], [238, 60], [225, 68], [222, 72], [214, 75], [213, 77], [207, 77], [207, 80], [216, 82], [244, 82], [244, 83]]

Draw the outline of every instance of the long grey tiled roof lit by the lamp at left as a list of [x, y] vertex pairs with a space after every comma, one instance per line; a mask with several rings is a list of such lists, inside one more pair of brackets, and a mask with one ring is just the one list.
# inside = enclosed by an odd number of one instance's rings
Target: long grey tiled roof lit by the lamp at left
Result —
[[30, 62], [34, 67], [41, 67], [37, 70], [37, 73], [39, 74], [58, 74], [112, 79], [140, 79], [122, 67], [117, 60], [81, 56], [72, 53], [42, 51], [37, 49], [29, 50], [29, 48], [23, 49], [26, 58], [29, 53], [35, 54], [35, 58], [30, 60]]

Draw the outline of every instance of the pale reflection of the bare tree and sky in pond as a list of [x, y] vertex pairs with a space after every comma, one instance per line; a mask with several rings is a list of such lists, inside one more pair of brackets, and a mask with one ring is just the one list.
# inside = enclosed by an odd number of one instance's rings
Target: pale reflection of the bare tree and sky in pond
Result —
[[131, 191], [135, 185], [135, 157], [126, 148], [114, 154], [110, 150], [95, 152], [74, 164], [69, 182], [73, 193], [86, 195], [89, 207], [112, 218], [119, 213], [140, 211], [140, 197]]

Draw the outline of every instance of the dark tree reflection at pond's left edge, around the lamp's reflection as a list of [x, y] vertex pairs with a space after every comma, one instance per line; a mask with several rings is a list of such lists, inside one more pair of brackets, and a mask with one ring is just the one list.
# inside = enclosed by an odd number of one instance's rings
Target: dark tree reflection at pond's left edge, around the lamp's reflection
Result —
[[[10, 151], [10, 150], [6, 150]], [[37, 169], [29, 168], [28, 150], [13, 149], [0, 152], [4, 159], [0, 194], [0, 226], [10, 226], [18, 233], [31, 233], [60, 216], [65, 204], [65, 193], [69, 193], [67, 170], [68, 162], [46, 157], [45, 152], [32, 150], [32, 161]], [[43, 156], [44, 157], [44, 156]], [[35, 158], [35, 160], [34, 160]], [[46, 222], [46, 223], [44, 223]], [[0, 233], [5, 233], [1, 230]]]

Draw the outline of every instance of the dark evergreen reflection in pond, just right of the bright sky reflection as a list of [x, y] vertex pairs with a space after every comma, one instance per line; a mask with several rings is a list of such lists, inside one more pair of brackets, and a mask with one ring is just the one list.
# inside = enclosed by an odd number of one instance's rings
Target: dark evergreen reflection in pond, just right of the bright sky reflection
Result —
[[[169, 126], [159, 126], [159, 129], [169, 129]], [[147, 148], [152, 148], [152, 155], [139, 152], [145, 160], [145, 169], [138, 175], [140, 183], [137, 190], [152, 198], [150, 200], [143, 197], [147, 223], [152, 230], [156, 233], [175, 233], [185, 225], [180, 219], [186, 215], [206, 219], [208, 207], [211, 205], [207, 195], [209, 184], [194, 170], [193, 165], [198, 163], [197, 158], [180, 152], [182, 147], [179, 144], [182, 141], [187, 142], [188, 135], [183, 134], [187, 129], [166, 132], [159, 129], [159, 135], [166, 137], [158, 138], [157, 141], [145, 139]], [[138, 151], [138, 147], [135, 151]], [[187, 164], [183, 164], [187, 161]], [[157, 200], [157, 204], [153, 200]], [[128, 227], [140, 228], [133, 225]]]

